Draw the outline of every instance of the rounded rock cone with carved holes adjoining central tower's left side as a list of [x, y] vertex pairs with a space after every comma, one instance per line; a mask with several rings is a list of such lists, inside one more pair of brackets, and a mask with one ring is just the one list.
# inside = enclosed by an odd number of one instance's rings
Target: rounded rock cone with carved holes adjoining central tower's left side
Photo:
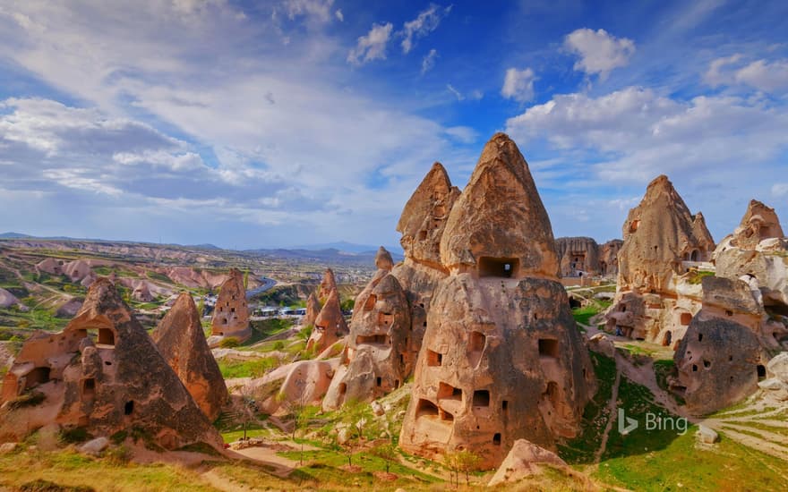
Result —
[[413, 370], [410, 306], [388, 270], [379, 269], [355, 298], [350, 327], [342, 366], [323, 400], [327, 410], [350, 400], [379, 398], [397, 389]]

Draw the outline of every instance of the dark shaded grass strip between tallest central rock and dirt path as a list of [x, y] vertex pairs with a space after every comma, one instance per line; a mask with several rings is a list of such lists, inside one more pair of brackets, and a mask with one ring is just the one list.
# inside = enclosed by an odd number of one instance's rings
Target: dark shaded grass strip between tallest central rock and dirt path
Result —
[[611, 419], [607, 407], [612, 397], [612, 386], [615, 383], [616, 365], [609, 357], [590, 352], [594, 363], [596, 382], [599, 385], [594, 398], [583, 410], [582, 430], [580, 434], [558, 446], [559, 454], [569, 463], [590, 463], [602, 439], [604, 428]]

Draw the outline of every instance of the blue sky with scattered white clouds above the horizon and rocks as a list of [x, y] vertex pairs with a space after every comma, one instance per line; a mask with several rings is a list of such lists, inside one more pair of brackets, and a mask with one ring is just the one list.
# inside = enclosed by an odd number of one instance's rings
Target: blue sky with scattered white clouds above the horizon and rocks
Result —
[[785, 2], [0, 0], [0, 231], [397, 244], [434, 161], [518, 142], [556, 236], [668, 174], [788, 216]]

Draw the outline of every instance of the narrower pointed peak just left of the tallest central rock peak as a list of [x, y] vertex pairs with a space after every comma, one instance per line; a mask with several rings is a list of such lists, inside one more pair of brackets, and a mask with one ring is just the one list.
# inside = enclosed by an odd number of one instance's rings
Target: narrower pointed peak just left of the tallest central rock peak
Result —
[[450, 210], [459, 196], [451, 185], [449, 174], [441, 163], [433, 164], [430, 172], [407, 200], [397, 231], [406, 258], [442, 270], [441, 236]]

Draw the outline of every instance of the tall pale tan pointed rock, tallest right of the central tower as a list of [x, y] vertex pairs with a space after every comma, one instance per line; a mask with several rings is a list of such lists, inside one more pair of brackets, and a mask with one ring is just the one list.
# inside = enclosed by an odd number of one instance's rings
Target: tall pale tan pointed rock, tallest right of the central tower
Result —
[[675, 346], [700, 310], [702, 293], [690, 268], [713, 268], [703, 215], [690, 214], [666, 176], [649, 183], [624, 223], [616, 298], [608, 331]]

